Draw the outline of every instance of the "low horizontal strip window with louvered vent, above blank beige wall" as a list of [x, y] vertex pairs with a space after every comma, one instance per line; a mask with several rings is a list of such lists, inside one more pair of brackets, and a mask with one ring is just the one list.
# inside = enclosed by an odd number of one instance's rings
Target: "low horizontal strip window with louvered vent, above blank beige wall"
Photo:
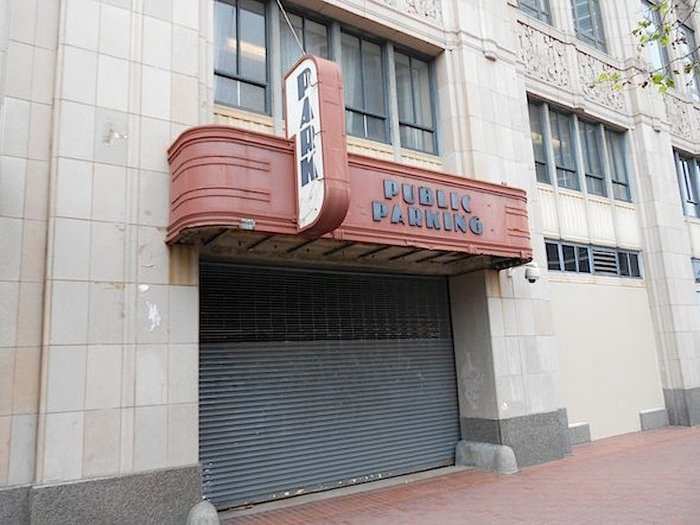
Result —
[[642, 276], [639, 253], [560, 241], [545, 241], [547, 268], [559, 272]]

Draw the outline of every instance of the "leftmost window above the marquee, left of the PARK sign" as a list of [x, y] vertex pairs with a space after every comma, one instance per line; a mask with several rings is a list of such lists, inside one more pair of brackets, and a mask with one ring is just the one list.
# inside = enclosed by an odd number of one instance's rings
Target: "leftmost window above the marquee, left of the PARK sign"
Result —
[[257, 0], [214, 2], [215, 99], [267, 111], [265, 5]]

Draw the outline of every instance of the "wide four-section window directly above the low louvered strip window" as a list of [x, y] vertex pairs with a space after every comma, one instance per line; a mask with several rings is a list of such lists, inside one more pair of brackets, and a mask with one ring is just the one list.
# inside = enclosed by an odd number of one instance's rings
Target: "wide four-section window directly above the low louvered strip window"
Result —
[[[546, 103], [530, 101], [528, 110], [537, 182], [552, 184], [551, 174], [556, 173], [556, 184], [560, 188], [578, 191], [581, 189], [579, 181], [585, 180], [588, 194], [607, 197], [610, 179], [613, 198], [632, 200], [624, 133], [550, 109]], [[574, 135], [576, 122], [578, 137]], [[579, 151], [580, 164], [576, 161]]]

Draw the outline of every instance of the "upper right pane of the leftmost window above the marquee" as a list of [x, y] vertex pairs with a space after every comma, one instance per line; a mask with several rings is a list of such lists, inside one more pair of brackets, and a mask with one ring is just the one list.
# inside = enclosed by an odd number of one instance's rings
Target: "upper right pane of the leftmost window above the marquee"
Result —
[[265, 47], [265, 5], [254, 0], [239, 0], [240, 74], [250, 80], [267, 80]]

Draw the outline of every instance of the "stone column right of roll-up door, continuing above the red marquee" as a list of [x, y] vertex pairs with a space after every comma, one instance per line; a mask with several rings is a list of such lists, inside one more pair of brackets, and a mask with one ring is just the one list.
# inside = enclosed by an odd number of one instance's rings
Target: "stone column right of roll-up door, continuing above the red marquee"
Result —
[[[443, 125], [459, 131], [445, 141], [446, 159], [466, 177], [527, 190], [532, 246], [543, 267], [512, 7], [505, 0], [479, 2], [475, 24], [475, 13], [458, 4], [446, 6], [445, 20], [464, 36], [438, 64]], [[447, 96], [449, 90], [456, 99]], [[568, 424], [546, 283], [529, 283], [522, 268], [484, 271], [452, 278], [450, 294], [463, 438], [508, 445], [520, 466], [563, 457], [569, 451]]]

